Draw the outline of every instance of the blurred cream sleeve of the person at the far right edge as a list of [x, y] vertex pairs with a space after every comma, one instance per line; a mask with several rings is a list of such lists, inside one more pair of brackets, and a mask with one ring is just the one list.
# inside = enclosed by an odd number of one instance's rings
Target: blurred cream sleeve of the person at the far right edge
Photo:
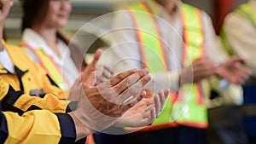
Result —
[[229, 14], [224, 20], [224, 32], [231, 49], [245, 60], [247, 66], [253, 70], [253, 75], [256, 76], [255, 27], [236, 14]]

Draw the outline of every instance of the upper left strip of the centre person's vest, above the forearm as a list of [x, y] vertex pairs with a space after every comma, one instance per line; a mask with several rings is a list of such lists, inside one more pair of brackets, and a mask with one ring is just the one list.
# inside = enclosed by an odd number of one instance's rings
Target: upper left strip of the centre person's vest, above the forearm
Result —
[[[143, 2], [127, 9], [137, 28], [137, 41], [140, 42], [143, 67], [148, 67], [151, 72], [169, 71], [166, 49], [164, 43], [161, 42], [157, 23], [147, 3]], [[148, 20], [150, 22], [145, 25], [144, 21]], [[152, 65], [148, 61], [155, 61], [159, 65]]]

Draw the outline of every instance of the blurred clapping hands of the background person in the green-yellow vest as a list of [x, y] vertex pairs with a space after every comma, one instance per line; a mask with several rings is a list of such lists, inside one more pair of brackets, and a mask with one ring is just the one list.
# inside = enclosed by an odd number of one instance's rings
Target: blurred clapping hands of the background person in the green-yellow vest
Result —
[[198, 83], [202, 79], [212, 78], [214, 75], [226, 79], [230, 84], [244, 84], [253, 73], [249, 68], [243, 66], [243, 63], [244, 60], [236, 55], [218, 66], [211, 60], [199, 58], [192, 61], [190, 66], [183, 68], [180, 84]]

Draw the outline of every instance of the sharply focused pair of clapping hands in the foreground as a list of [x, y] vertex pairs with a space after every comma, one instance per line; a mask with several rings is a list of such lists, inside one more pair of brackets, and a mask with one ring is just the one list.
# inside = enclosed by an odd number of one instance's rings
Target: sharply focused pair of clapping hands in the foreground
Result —
[[152, 89], [143, 88], [150, 81], [148, 69], [133, 69], [113, 78], [106, 66], [96, 71], [101, 55], [102, 50], [97, 50], [92, 62], [81, 72], [84, 95], [79, 96], [77, 109], [69, 113], [76, 126], [77, 140], [113, 124], [147, 126], [159, 116], [169, 95], [169, 89], [153, 96]]

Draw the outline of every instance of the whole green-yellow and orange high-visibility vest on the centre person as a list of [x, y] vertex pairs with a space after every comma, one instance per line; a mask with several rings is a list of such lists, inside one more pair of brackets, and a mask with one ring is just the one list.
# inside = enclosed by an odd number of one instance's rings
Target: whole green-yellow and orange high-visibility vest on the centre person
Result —
[[[183, 20], [183, 67], [190, 65], [190, 60], [204, 55], [204, 33], [201, 21], [201, 10], [182, 3]], [[152, 14], [154, 9], [148, 3], [137, 3], [128, 7], [134, 26], [137, 29], [137, 41], [144, 67], [154, 72], [170, 71], [164, 43]], [[186, 55], [188, 54], [188, 55]], [[190, 59], [190, 60], [189, 60]], [[157, 130], [183, 124], [196, 128], [207, 128], [207, 107], [204, 105], [204, 92], [201, 84], [184, 84], [177, 95], [170, 95], [160, 117], [154, 124], [144, 130]]]

